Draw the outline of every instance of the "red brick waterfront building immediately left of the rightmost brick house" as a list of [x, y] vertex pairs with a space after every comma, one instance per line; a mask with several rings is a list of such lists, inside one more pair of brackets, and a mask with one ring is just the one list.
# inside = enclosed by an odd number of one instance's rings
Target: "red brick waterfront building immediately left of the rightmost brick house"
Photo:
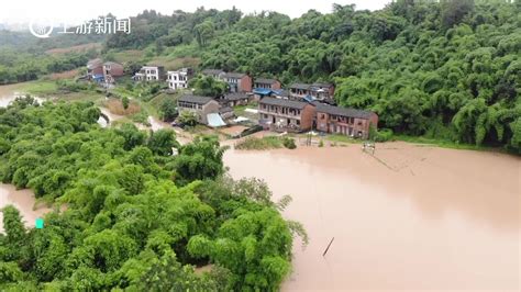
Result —
[[303, 132], [313, 127], [315, 105], [312, 103], [266, 97], [258, 102], [259, 123], [277, 132]]

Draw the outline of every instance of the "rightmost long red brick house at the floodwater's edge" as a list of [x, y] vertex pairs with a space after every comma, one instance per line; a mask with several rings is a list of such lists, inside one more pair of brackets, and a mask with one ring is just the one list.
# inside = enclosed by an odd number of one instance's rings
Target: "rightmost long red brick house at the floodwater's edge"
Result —
[[318, 131], [366, 139], [369, 137], [369, 127], [373, 125], [376, 130], [378, 126], [378, 115], [374, 112], [318, 102], [315, 105]]

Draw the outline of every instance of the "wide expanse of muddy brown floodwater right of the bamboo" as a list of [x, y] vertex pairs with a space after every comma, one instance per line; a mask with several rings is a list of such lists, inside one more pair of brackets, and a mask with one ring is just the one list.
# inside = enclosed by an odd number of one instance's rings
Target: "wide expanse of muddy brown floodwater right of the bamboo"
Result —
[[[229, 150], [310, 236], [282, 291], [519, 291], [521, 161], [406, 143]], [[334, 237], [328, 254], [324, 249]]]

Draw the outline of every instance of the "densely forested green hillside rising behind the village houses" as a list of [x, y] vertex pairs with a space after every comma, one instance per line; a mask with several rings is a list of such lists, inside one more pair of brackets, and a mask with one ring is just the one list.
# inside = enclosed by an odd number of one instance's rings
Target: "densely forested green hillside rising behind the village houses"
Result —
[[[202, 67], [332, 81], [341, 105], [408, 135], [521, 150], [521, 2], [398, 0], [381, 11], [334, 5], [291, 20], [199, 9], [140, 14], [107, 50], [201, 57]], [[185, 49], [182, 49], [185, 48]], [[179, 53], [180, 52], [180, 53]]]

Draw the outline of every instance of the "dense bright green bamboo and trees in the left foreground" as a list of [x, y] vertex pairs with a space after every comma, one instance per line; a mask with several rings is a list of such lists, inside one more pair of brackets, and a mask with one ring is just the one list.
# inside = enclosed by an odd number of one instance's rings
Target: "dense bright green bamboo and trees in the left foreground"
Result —
[[279, 288], [292, 233], [306, 239], [279, 213], [287, 198], [273, 203], [264, 182], [228, 178], [213, 137], [180, 146], [169, 130], [101, 128], [99, 114], [31, 98], [0, 109], [2, 182], [67, 205], [43, 229], [3, 209], [0, 290]]

